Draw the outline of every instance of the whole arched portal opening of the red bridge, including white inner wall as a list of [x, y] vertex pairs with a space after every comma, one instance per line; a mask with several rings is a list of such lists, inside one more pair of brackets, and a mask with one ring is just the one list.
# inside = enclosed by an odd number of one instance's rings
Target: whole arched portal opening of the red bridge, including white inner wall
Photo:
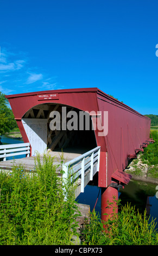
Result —
[[89, 113], [71, 106], [43, 103], [24, 114], [24, 130], [32, 155], [46, 150], [84, 154], [97, 147]]

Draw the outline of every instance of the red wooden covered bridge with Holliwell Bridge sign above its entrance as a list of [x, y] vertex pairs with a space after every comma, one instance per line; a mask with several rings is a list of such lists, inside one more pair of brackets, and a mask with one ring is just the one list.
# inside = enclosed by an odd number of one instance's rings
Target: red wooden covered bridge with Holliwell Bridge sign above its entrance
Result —
[[[110, 200], [112, 194], [117, 198], [116, 185], [128, 184], [131, 176], [124, 169], [129, 159], [135, 158], [138, 151], [143, 151], [151, 142], [150, 119], [98, 88], [50, 90], [6, 97], [24, 143], [30, 143], [30, 156], [36, 150], [42, 154], [45, 149], [53, 152], [62, 148], [64, 152], [71, 153], [79, 153], [79, 149], [82, 149], [84, 151], [80, 151], [78, 160], [81, 160], [80, 174], [84, 172], [84, 176], [86, 153], [90, 151], [90, 159], [93, 159], [87, 166], [91, 170], [96, 157], [96, 171], [92, 170], [90, 179], [98, 171], [98, 186], [102, 187], [104, 204], [107, 197]], [[86, 129], [85, 125], [79, 129], [79, 124], [77, 129], [62, 129], [64, 126], [61, 121], [61, 129], [52, 130], [50, 123], [54, 116], [51, 113], [55, 113], [52, 111], [62, 113], [63, 109], [66, 114], [70, 111], [76, 112], [78, 120], [81, 111], [87, 112], [91, 122], [90, 129]], [[67, 122], [70, 117], [66, 116]], [[101, 133], [99, 127], [102, 127], [104, 133]], [[87, 182], [89, 180], [81, 186], [81, 192]], [[102, 207], [105, 212], [105, 205]]]

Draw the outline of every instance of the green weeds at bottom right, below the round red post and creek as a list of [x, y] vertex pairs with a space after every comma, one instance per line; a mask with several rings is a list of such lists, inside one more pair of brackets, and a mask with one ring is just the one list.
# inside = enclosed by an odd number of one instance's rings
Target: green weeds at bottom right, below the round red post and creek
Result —
[[114, 214], [112, 220], [103, 223], [96, 212], [90, 214], [83, 229], [83, 245], [158, 245], [155, 220], [149, 222], [146, 211], [142, 216], [128, 203], [121, 206], [121, 211]]

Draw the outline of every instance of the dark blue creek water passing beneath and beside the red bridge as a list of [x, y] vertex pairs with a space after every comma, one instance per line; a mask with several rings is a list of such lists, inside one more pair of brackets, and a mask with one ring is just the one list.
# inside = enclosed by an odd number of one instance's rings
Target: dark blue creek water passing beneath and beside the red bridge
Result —
[[[2, 136], [2, 144], [16, 144], [23, 143], [23, 139], [10, 138], [7, 136]], [[22, 158], [24, 156], [17, 156], [15, 158]], [[9, 159], [9, 158], [8, 158]], [[7, 160], [8, 160], [7, 159]], [[135, 205], [135, 210], [142, 213], [144, 210], [147, 210], [147, 216], [155, 219], [156, 228], [158, 230], [158, 198], [156, 197], [156, 192], [158, 191], [157, 184], [150, 182], [138, 181], [131, 179], [128, 185], [125, 185], [124, 188], [119, 189], [118, 197], [121, 199], [121, 204], [125, 205], [130, 203], [132, 206]], [[95, 206], [95, 210], [98, 214], [101, 214], [101, 191], [98, 186], [87, 185], [85, 187], [84, 193], [80, 193], [77, 197], [77, 202], [81, 204], [90, 205], [90, 210], [92, 211]], [[97, 200], [98, 198], [98, 200]]]

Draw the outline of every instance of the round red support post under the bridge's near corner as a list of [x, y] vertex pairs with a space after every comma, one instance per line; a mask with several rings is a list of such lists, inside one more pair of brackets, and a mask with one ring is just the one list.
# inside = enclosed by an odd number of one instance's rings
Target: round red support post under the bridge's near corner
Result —
[[113, 214], [118, 213], [117, 201], [118, 201], [118, 189], [116, 187], [110, 187], [110, 186], [107, 188], [102, 187], [102, 197], [101, 197], [102, 221], [107, 221], [108, 218], [112, 218]]

